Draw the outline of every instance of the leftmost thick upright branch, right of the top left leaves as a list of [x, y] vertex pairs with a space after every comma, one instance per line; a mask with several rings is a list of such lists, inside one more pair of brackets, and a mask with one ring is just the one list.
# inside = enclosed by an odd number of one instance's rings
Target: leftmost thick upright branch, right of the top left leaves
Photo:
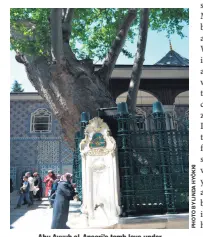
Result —
[[63, 52], [62, 8], [51, 9], [51, 47], [52, 57], [57, 64], [61, 64]]

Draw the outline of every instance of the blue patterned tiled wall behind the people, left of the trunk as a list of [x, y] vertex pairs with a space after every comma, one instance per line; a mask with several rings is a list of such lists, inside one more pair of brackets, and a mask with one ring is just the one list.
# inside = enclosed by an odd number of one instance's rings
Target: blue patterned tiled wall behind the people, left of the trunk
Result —
[[38, 171], [42, 178], [49, 169], [56, 173], [72, 172], [73, 152], [63, 140], [59, 122], [52, 115], [49, 133], [31, 133], [31, 113], [49, 107], [43, 101], [11, 101], [10, 103], [10, 176], [19, 188], [26, 171]]

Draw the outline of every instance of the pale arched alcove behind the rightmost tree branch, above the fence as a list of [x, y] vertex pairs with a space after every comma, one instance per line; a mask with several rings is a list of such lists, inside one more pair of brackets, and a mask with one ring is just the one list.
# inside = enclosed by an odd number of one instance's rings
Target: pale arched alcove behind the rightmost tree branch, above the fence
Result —
[[[120, 94], [116, 98], [116, 103], [126, 102], [127, 92]], [[137, 96], [137, 105], [152, 105], [154, 102], [158, 101], [158, 99], [149, 92], [139, 90]]]

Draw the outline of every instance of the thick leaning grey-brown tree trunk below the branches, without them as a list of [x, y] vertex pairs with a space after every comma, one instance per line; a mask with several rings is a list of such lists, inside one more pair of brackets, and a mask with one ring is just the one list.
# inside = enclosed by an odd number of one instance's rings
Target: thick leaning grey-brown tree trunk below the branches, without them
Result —
[[71, 70], [66, 61], [58, 68], [43, 57], [24, 60], [29, 80], [60, 121], [71, 146], [82, 112], [96, 116], [96, 109], [115, 106], [108, 88], [85, 60], [75, 62]]

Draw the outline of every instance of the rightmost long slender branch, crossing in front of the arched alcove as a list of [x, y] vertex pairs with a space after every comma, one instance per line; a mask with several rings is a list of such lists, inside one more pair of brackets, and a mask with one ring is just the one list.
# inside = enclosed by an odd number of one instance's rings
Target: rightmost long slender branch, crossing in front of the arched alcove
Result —
[[136, 110], [137, 93], [140, 86], [140, 77], [142, 73], [142, 66], [144, 62], [144, 55], [147, 43], [147, 33], [149, 25], [149, 9], [141, 9], [139, 36], [137, 42], [137, 52], [133, 64], [130, 85], [127, 95], [127, 104], [130, 112]]

